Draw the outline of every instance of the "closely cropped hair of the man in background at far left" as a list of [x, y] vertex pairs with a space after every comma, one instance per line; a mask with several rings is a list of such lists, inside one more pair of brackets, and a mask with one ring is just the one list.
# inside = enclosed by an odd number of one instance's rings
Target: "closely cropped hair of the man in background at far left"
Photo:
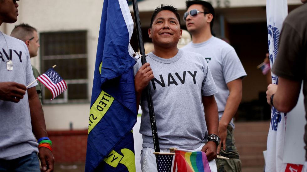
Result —
[[11, 37], [15, 37], [17, 39], [26, 42], [26, 40], [33, 37], [33, 32], [37, 32], [37, 30], [26, 23], [21, 23], [19, 25], [15, 25], [14, 29], [11, 32]]

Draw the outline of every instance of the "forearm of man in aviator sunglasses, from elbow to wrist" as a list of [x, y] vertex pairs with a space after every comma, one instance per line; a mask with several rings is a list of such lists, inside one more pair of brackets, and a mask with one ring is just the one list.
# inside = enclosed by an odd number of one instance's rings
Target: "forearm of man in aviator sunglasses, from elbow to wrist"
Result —
[[242, 91], [234, 90], [231, 91], [226, 101], [226, 106], [219, 125], [227, 127], [234, 115], [236, 114], [240, 102], [242, 100]]

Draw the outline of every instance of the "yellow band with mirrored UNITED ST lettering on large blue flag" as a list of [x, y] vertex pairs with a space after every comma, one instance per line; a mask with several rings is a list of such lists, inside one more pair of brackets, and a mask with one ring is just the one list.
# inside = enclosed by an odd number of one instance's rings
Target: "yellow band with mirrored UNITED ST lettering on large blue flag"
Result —
[[100, 95], [96, 99], [95, 103], [92, 105], [90, 110], [90, 118], [88, 122], [88, 133], [97, 125], [97, 123], [102, 119], [102, 117], [107, 113], [108, 109], [113, 103], [114, 98], [101, 91]]

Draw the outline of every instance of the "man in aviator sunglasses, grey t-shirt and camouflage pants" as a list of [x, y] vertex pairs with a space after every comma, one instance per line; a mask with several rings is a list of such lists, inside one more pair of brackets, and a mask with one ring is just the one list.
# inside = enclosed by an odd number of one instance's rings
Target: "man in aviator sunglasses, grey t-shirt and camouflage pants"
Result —
[[219, 111], [218, 135], [221, 144], [217, 153], [230, 160], [216, 160], [218, 171], [241, 171], [241, 160], [233, 136], [233, 116], [242, 99], [244, 68], [235, 52], [226, 42], [212, 36], [214, 8], [206, 1], [186, 1], [184, 21], [192, 35], [192, 42], [183, 50], [200, 53], [206, 58], [212, 77], [218, 88], [215, 95]]

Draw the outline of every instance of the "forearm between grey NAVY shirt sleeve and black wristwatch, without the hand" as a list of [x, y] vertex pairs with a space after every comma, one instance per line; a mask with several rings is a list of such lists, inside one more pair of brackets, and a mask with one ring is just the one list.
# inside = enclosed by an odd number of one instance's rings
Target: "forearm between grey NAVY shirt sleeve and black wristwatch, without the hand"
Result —
[[205, 109], [205, 119], [208, 134], [217, 135], [219, 126], [219, 115], [214, 96], [203, 96], [203, 105]]

